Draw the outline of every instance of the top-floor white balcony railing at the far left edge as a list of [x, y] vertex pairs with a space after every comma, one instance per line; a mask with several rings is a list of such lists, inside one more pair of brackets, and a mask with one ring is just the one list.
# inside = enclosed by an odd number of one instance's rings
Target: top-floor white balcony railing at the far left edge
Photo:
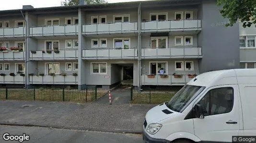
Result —
[[0, 38], [3, 37], [25, 37], [26, 28], [16, 27], [16, 28], [0, 28]]

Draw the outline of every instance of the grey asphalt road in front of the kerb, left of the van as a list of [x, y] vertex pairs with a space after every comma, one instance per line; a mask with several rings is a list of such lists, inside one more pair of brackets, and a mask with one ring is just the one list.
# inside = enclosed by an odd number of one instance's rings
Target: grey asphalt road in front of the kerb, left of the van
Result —
[[26, 133], [30, 136], [30, 140], [23, 143], [143, 143], [140, 134], [7, 125], [0, 125], [0, 143], [19, 143], [18, 141], [4, 141], [4, 133], [12, 135]]

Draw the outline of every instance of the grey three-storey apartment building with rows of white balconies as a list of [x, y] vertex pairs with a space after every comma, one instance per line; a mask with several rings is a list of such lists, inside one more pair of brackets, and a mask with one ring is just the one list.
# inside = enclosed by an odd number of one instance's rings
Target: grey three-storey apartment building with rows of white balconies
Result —
[[0, 47], [9, 47], [0, 51], [2, 85], [110, 88], [124, 72], [137, 87], [184, 85], [194, 74], [239, 68], [239, 25], [224, 26], [215, 0], [23, 6], [0, 15]]

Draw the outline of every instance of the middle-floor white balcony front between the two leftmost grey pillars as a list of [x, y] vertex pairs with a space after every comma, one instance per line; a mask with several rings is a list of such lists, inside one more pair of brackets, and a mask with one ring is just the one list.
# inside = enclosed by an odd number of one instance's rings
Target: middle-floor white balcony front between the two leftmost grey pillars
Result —
[[78, 60], [78, 50], [59, 50], [55, 51], [30, 51], [29, 60]]

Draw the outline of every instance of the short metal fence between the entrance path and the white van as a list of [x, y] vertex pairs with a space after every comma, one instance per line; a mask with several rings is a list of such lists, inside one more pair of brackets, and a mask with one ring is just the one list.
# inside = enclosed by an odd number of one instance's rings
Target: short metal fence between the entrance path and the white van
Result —
[[131, 88], [131, 103], [159, 104], [171, 100], [178, 90], [172, 89], [134, 89]]

